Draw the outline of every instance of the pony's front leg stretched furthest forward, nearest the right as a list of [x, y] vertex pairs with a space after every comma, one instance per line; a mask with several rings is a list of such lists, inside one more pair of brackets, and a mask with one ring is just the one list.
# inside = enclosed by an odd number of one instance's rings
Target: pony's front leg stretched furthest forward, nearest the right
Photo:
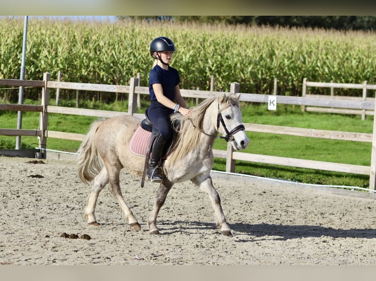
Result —
[[226, 218], [220, 204], [220, 197], [213, 186], [212, 178], [210, 176], [205, 179], [198, 177], [192, 181], [194, 184], [199, 186], [202, 191], [208, 194], [214, 209], [216, 226], [219, 228], [221, 234], [232, 237], [230, 226], [226, 222]]

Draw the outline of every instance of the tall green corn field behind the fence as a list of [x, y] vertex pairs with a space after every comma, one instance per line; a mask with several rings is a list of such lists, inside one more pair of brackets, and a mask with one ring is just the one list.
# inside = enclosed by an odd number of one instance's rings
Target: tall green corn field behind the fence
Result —
[[[0, 78], [19, 79], [23, 18], [0, 18]], [[198, 23], [98, 22], [31, 19], [27, 30], [25, 79], [129, 85], [141, 74], [147, 86], [153, 60], [151, 41], [171, 38], [177, 48], [171, 66], [181, 75], [182, 89], [229, 91], [239, 82], [242, 93], [300, 95], [302, 80], [376, 84], [374, 32]], [[312, 94], [329, 94], [312, 89]], [[336, 94], [361, 91], [336, 89]], [[52, 95], [54, 94], [53, 91]], [[63, 92], [64, 93], [64, 92]], [[0, 89], [0, 99], [17, 100], [18, 89]], [[94, 98], [95, 93], [87, 93]], [[37, 99], [39, 90], [25, 89], [25, 98]], [[65, 93], [69, 98], [69, 92]], [[73, 97], [73, 95], [71, 94]], [[60, 94], [64, 98], [64, 94]]]

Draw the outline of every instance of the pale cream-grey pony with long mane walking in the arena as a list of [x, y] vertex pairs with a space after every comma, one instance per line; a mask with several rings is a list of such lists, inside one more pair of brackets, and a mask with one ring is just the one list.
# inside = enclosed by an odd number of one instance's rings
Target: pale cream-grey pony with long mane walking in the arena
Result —
[[[242, 125], [239, 96], [222, 93], [219, 97], [206, 99], [191, 108], [190, 119], [180, 114], [171, 116], [172, 121], [180, 121], [180, 126], [176, 129], [173, 149], [162, 164], [164, 180], [148, 219], [150, 234], [159, 234], [157, 216], [171, 187], [175, 183], [191, 180], [208, 194], [220, 232], [232, 236], [210, 171], [214, 162], [213, 143], [216, 138], [225, 139], [235, 150], [245, 149], [249, 143]], [[130, 227], [133, 230], [140, 229], [140, 224], [124, 201], [119, 184], [122, 168], [135, 175], [142, 175], [145, 157], [136, 156], [130, 151], [131, 139], [139, 126], [140, 120], [130, 115], [95, 121], [82, 141], [78, 151], [78, 175], [83, 183], [89, 185], [93, 181], [84, 213], [89, 224], [99, 225], [95, 219], [95, 206], [99, 193], [109, 183], [108, 188], [117, 199]]]

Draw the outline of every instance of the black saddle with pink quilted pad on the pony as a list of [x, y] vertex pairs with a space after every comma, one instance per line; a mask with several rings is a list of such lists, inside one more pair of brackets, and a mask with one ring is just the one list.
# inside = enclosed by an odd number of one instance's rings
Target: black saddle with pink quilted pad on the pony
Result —
[[[153, 126], [152, 121], [150, 121], [148, 117], [148, 110], [146, 109], [145, 118], [141, 121], [140, 126], [135, 131], [134, 136], [132, 137], [132, 140], [131, 140], [131, 144], [130, 144], [130, 149], [134, 154], [145, 156], [145, 164], [144, 164], [144, 169], [142, 172], [141, 187], [143, 187], [145, 183], [146, 171], [149, 166], [151, 150], [152, 150], [153, 143], [158, 133], [159, 131], [157, 128]], [[136, 139], [138, 141], [136, 141]], [[161, 157], [161, 162], [163, 162], [166, 159], [167, 155], [171, 152], [175, 139], [176, 139], [176, 131], [172, 130], [172, 137], [169, 140], [166, 140], [166, 144], [164, 146], [164, 150], [163, 150], [162, 157]], [[141, 147], [142, 146], [141, 144], [146, 144], [147, 141], [148, 141], [147, 148]], [[138, 143], [138, 145], [136, 143]], [[137, 151], [135, 147], [138, 147]]]

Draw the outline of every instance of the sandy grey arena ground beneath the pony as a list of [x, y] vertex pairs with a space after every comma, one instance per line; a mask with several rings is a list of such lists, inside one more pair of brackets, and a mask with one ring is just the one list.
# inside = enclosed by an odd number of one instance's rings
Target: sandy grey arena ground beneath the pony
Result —
[[360, 191], [213, 176], [233, 237], [219, 234], [208, 197], [190, 182], [172, 188], [158, 216], [161, 234], [150, 235], [158, 184], [141, 188], [123, 170], [123, 196], [141, 230], [130, 230], [107, 188], [96, 209], [102, 225], [94, 227], [83, 218], [90, 187], [75, 162], [38, 161], [0, 157], [1, 265], [376, 264], [376, 197], [353, 195]]

